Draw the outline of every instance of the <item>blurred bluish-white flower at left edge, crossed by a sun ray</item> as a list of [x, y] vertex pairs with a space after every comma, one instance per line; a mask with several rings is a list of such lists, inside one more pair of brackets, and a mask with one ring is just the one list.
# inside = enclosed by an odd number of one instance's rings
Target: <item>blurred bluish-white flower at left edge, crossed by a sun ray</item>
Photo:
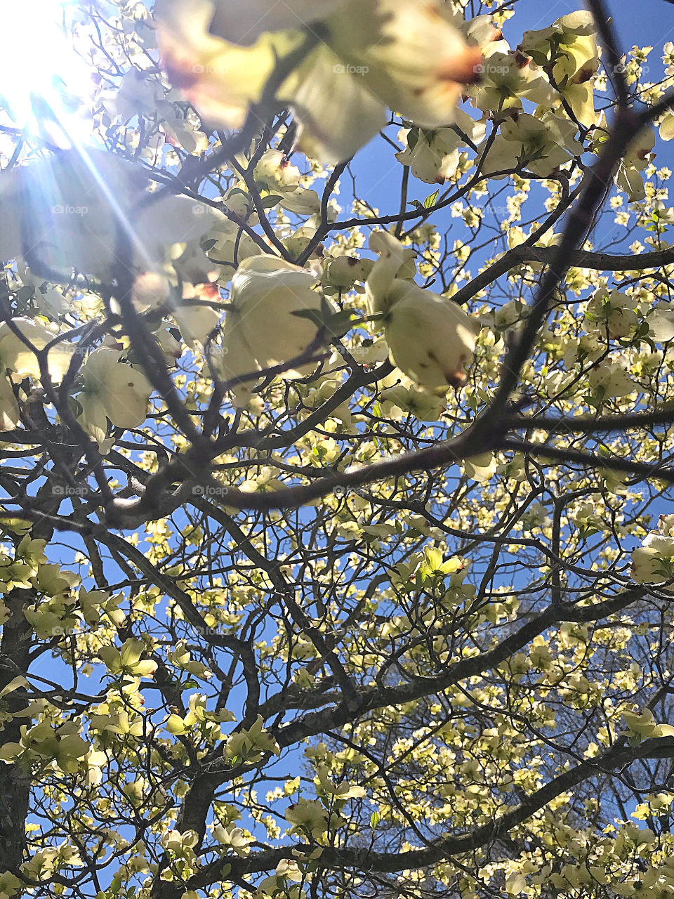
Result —
[[[0, 261], [67, 283], [72, 271], [110, 282], [120, 232], [131, 267], [164, 263], [166, 247], [198, 239], [215, 214], [187, 197], [147, 203], [148, 173], [101, 150], [66, 150], [0, 173]], [[123, 262], [127, 262], [124, 260]]]

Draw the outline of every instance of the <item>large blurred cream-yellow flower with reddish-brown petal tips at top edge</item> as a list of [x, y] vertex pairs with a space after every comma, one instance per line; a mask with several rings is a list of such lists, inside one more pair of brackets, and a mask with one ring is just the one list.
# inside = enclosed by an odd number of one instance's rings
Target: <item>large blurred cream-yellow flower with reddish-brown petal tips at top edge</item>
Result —
[[214, 127], [241, 128], [288, 54], [315, 39], [275, 92], [293, 108], [302, 149], [352, 156], [386, 124], [386, 107], [418, 125], [452, 120], [482, 54], [439, 0], [158, 0], [159, 43], [173, 85]]

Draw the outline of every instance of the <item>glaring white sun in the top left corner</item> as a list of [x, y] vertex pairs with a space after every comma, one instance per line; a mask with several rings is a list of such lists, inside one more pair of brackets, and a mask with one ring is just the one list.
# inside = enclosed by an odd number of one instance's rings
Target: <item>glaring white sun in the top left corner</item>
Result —
[[17, 128], [77, 139], [76, 111], [91, 81], [68, 34], [68, 10], [72, 0], [4, 0], [0, 103]]

